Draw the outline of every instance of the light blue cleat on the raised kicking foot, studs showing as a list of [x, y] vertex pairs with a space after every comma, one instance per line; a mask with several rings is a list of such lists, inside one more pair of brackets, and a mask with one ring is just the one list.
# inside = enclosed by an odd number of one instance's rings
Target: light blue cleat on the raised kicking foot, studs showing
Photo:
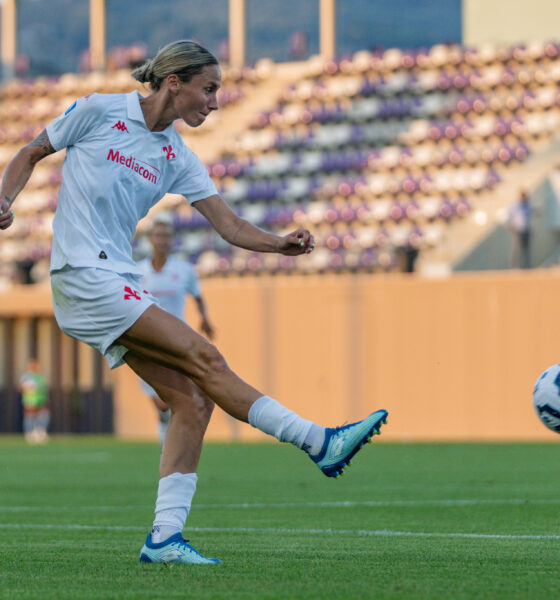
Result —
[[309, 458], [327, 477], [339, 477], [350, 460], [371, 437], [380, 433], [381, 424], [387, 423], [387, 411], [377, 410], [363, 421], [325, 429], [325, 441], [319, 454]]

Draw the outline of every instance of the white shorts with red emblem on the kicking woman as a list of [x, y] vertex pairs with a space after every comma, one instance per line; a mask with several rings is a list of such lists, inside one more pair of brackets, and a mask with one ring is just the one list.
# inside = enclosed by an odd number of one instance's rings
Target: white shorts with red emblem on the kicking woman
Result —
[[54, 316], [66, 335], [89, 344], [114, 369], [127, 348], [114, 343], [157, 300], [139, 275], [94, 267], [64, 267], [51, 273]]

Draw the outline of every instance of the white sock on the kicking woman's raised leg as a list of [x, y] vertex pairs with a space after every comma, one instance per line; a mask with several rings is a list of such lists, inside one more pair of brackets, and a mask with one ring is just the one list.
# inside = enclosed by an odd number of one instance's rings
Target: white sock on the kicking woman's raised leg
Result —
[[289, 442], [310, 454], [318, 454], [323, 445], [323, 427], [302, 419], [269, 396], [261, 396], [252, 404], [249, 423], [280, 442]]

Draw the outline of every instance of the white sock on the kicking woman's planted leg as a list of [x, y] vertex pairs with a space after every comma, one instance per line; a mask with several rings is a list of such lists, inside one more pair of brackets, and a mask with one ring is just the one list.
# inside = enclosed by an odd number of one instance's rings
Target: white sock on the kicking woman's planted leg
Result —
[[159, 544], [183, 531], [196, 490], [196, 473], [172, 473], [158, 485], [152, 542]]

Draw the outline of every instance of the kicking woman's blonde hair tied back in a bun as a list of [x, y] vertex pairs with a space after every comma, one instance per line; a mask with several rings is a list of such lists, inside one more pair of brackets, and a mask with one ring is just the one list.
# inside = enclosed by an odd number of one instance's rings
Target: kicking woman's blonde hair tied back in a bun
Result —
[[206, 65], [217, 65], [218, 59], [206, 48], [192, 40], [177, 40], [161, 48], [152, 59], [134, 69], [131, 75], [141, 83], [149, 83], [157, 91], [163, 80], [173, 73], [181, 81], [190, 81]]

